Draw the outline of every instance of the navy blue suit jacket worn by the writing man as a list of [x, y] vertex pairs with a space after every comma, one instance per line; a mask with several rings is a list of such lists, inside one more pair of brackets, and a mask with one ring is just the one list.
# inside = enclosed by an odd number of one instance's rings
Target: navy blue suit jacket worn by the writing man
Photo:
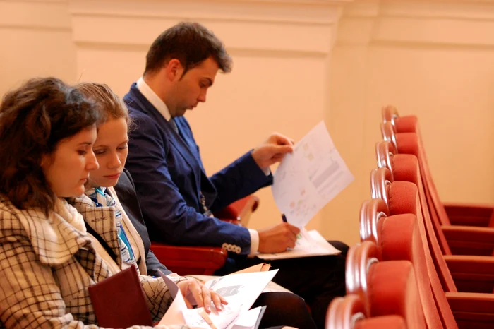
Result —
[[[123, 98], [136, 127], [129, 135], [126, 168], [131, 172], [150, 239], [176, 245], [233, 245], [248, 254], [248, 229], [203, 215], [272, 183], [251, 152], [208, 178], [187, 120], [176, 118], [177, 134], [135, 83]], [[239, 246], [240, 248], [236, 248]]]

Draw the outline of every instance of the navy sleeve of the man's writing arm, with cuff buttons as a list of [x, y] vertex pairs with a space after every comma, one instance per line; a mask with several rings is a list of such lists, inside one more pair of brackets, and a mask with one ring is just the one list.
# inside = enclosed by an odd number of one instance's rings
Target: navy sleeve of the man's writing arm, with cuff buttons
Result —
[[144, 220], [152, 241], [176, 245], [239, 246], [248, 254], [248, 229], [198, 213], [186, 204], [171, 179], [167, 152], [171, 152], [164, 131], [149, 116], [134, 117], [126, 167], [134, 179]]

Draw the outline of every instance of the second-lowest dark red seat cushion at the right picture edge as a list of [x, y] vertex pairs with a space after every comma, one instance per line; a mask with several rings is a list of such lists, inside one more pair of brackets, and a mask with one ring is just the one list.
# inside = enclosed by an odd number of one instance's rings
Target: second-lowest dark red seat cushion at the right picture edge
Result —
[[459, 292], [493, 292], [494, 257], [454, 255], [444, 258]]

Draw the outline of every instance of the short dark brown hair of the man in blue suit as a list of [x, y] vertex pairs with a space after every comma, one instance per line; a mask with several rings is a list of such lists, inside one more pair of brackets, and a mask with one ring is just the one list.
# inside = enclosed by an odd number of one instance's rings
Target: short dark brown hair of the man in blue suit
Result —
[[212, 57], [224, 73], [231, 71], [231, 56], [224, 44], [199, 23], [182, 22], [162, 32], [146, 55], [144, 74], [155, 73], [171, 59], [178, 59], [183, 74]]

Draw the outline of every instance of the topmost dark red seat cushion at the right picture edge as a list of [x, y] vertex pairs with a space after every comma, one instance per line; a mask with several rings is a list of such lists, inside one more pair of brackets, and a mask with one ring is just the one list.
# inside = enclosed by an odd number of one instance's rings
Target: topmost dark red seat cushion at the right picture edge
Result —
[[451, 225], [488, 227], [494, 225], [494, 205], [444, 203]]

